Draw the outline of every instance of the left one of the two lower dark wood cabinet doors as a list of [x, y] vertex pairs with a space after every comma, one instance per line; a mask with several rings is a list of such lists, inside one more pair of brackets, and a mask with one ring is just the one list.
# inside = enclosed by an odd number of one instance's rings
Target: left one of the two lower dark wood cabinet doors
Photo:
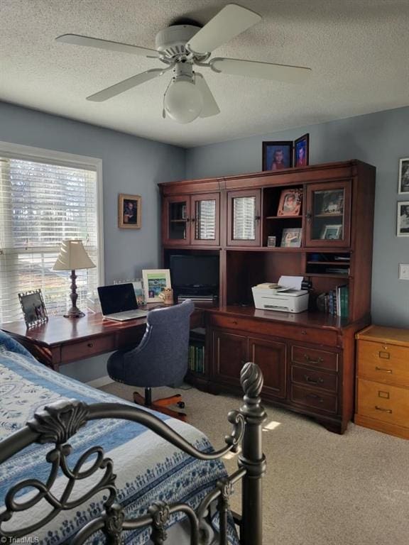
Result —
[[213, 373], [217, 380], [231, 385], [240, 385], [240, 371], [246, 363], [246, 341], [244, 335], [225, 333], [212, 329]]

